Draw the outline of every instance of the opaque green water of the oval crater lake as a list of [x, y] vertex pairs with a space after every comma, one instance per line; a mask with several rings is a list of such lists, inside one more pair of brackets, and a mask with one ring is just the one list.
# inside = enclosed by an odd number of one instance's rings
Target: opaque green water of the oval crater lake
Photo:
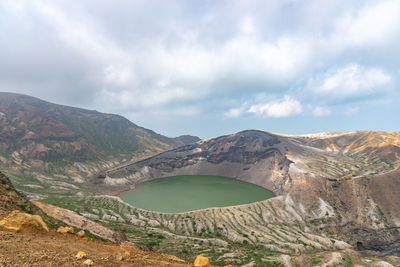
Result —
[[273, 197], [262, 187], [218, 176], [174, 176], [152, 180], [122, 193], [138, 208], [169, 213], [247, 204]]

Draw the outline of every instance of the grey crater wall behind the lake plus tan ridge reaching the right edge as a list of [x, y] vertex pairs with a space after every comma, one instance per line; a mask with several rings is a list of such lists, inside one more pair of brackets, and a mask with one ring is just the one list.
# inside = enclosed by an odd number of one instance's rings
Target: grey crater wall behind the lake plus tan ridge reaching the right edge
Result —
[[[283, 192], [289, 167], [342, 180], [393, 171], [400, 133], [353, 132], [288, 136], [257, 130], [202, 140], [108, 172], [105, 182], [136, 183], [178, 174], [238, 178]], [[278, 179], [279, 178], [279, 179]], [[115, 182], [116, 180], [114, 180]]]

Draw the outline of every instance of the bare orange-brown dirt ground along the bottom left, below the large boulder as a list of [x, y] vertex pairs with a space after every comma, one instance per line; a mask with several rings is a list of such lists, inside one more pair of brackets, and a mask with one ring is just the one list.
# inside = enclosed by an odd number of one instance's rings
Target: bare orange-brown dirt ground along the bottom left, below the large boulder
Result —
[[[76, 259], [78, 251], [87, 257]], [[118, 246], [73, 234], [0, 231], [0, 266], [192, 266], [177, 257]]]

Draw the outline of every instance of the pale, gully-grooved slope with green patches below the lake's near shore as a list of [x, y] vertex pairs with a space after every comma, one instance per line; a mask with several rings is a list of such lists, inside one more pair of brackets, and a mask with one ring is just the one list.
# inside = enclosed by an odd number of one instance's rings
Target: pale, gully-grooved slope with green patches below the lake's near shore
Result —
[[[103, 225], [128, 240], [188, 261], [202, 254], [215, 266], [399, 266], [400, 257], [360, 255], [343, 242], [335, 212], [314, 220], [289, 196], [223, 208], [167, 214], [135, 208], [116, 197], [48, 199]], [[324, 208], [324, 203], [316, 203]]]

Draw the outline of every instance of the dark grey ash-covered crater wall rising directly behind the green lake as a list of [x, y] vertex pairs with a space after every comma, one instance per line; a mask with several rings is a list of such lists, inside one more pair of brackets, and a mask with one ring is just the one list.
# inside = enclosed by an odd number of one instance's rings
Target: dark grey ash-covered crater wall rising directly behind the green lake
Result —
[[[289, 178], [285, 176], [290, 164], [284, 156], [286, 149], [277, 136], [244, 131], [199, 141], [113, 170], [104, 182], [137, 183], [172, 175], [203, 174], [238, 178], [280, 193]], [[276, 176], [281, 179], [275, 183]]]

